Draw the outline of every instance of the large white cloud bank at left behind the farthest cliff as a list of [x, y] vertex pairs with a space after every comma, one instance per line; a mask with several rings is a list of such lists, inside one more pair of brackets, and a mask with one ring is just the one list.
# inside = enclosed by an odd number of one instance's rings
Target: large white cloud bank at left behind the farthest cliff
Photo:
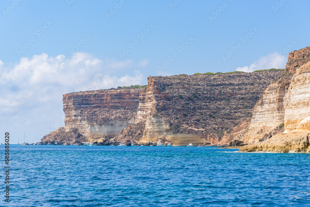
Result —
[[[41, 54], [21, 58], [12, 66], [0, 60], [0, 125], [16, 133], [13, 143], [17, 143], [18, 131], [28, 133], [29, 142], [33, 142], [48, 124], [64, 126], [65, 93], [146, 83], [143, 74], [134, 69], [140, 63], [132, 60], [102, 60], [83, 52], [76, 52], [65, 62], [62, 59], [63, 55]], [[127, 74], [119, 75], [122, 70]], [[7, 115], [11, 115], [9, 119]]]

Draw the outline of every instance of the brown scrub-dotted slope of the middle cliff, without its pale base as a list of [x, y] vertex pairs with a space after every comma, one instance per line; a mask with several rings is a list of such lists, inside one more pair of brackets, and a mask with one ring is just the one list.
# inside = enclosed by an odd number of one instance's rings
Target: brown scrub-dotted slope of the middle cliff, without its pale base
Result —
[[267, 86], [281, 70], [237, 71], [218, 76], [152, 77], [162, 97], [155, 106], [175, 133], [204, 133], [220, 140], [224, 132], [247, 119]]

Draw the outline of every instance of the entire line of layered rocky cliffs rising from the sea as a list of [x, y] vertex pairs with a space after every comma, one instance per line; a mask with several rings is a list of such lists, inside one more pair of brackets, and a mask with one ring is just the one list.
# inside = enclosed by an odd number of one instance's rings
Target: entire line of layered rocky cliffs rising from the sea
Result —
[[309, 60], [306, 47], [290, 52], [282, 70], [148, 77], [143, 87], [65, 94], [65, 126], [41, 141], [308, 152]]

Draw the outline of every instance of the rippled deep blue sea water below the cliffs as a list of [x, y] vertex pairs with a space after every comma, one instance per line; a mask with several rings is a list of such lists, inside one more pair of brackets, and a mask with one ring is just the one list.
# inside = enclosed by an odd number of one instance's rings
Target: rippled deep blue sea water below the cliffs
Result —
[[310, 154], [236, 151], [10, 145], [1, 206], [310, 206]]

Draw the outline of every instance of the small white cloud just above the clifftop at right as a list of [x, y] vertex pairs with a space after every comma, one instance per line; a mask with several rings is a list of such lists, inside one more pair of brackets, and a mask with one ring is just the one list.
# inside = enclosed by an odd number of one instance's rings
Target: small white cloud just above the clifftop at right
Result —
[[285, 68], [287, 62], [287, 57], [280, 55], [278, 52], [274, 52], [268, 54], [267, 56], [262, 56], [258, 60], [255, 60], [254, 63], [250, 64], [250, 66], [243, 66], [236, 68], [236, 71], [243, 72], [253, 72], [255, 70], [263, 70], [263, 69], [283, 69]]

